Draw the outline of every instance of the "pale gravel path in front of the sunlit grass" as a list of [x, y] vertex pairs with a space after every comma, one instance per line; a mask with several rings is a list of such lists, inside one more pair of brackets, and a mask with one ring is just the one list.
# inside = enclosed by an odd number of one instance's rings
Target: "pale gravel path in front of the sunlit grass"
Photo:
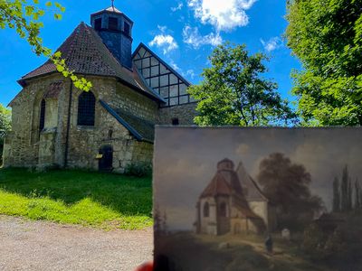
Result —
[[152, 229], [106, 232], [0, 216], [1, 271], [133, 271], [152, 250]]

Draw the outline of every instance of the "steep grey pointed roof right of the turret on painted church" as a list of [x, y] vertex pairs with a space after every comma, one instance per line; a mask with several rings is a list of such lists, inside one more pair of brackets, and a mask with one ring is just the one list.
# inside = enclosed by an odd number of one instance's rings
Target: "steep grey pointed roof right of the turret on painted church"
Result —
[[258, 184], [254, 182], [252, 177], [246, 172], [242, 163], [238, 165], [236, 173], [242, 184], [243, 194], [247, 201], [268, 201], [268, 199], [263, 195]]

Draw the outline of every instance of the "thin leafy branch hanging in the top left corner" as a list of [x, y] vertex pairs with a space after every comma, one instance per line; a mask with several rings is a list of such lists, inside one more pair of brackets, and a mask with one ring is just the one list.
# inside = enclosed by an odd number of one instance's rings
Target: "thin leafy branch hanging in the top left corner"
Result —
[[70, 77], [75, 87], [89, 90], [91, 83], [78, 78], [69, 70], [66, 60], [62, 60], [62, 53], [56, 51], [52, 54], [52, 50], [43, 46], [43, 39], [40, 37], [43, 15], [52, 12], [56, 20], [61, 20], [64, 11], [65, 8], [57, 2], [48, 1], [41, 5], [39, 0], [0, 0], [0, 29], [14, 29], [21, 38], [26, 39], [36, 55], [50, 58], [64, 77]]

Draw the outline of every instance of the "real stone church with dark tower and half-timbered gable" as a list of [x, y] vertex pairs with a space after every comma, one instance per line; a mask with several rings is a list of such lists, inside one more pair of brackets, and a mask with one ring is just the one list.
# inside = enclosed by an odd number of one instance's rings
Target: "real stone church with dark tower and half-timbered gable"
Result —
[[133, 22], [114, 6], [90, 15], [62, 43], [70, 70], [90, 80], [73, 87], [52, 61], [18, 80], [9, 104], [12, 133], [5, 167], [77, 167], [122, 173], [151, 163], [155, 125], [192, 125], [190, 83], [140, 43], [132, 52]]

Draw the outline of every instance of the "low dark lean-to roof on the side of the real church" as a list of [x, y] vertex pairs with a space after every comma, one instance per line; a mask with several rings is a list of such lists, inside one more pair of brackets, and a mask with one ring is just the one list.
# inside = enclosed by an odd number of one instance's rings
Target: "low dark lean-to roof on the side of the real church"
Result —
[[100, 105], [104, 107], [110, 115], [115, 117], [122, 126], [129, 130], [129, 133], [136, 137], [138, 141], [153, 143], [155, 139], [155, 124], [141, 117], [129, 114], [124, 109], [110, 107], [106, 102], [100, 100]]

